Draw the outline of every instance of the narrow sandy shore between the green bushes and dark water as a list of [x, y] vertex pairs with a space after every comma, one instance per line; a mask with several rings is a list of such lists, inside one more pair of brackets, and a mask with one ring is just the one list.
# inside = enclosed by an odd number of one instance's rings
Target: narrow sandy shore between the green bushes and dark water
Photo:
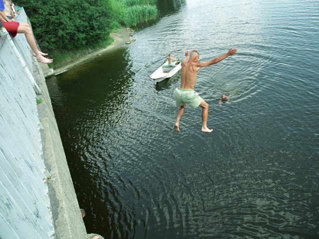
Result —
[[107, 51], [110, 51], [113, 49], [117, 49], [117, 48], [120, 48], [120, 47], [123, 47], [123, 46], [129, 44], [131, 42], [130, 37], [133, 34], [133, 32], [134, 31], [130, 28], [121, 28], [116, 33], [110, 33], [109, 35], [114, 39], [112, 44], [106, 46], [103, 49], [92, 51], [83, 57], [77, 58], [73, 62], [71, 62], [63, 67], [59, 67], [59, 68], [54, 69], [53, 75], [62, 74], [64, 72], [66, 72], [68, 69], [72, 68], [73, 66], [75, 66], [79, 63], [82, 63], [88, 59], [91, 59], [91, 58], [95, 57], [96, 55], [99, 55], [101, 53], [104, 53], [104, 52], [107, 52]]

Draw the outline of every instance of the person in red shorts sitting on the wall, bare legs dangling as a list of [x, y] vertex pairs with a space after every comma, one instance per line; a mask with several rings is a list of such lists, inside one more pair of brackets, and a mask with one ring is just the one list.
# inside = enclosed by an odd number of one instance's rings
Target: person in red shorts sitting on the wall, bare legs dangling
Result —
[[51, 63], [53, 60], [45, 58], [44, 56], [47, 55], [37, 49], [31, 28], [29, 24], [24, 22], [16, 22], [15, 19], [8, 19], [3, 12], [4, 4], [3, 0], [0, 0], [0, 21], [4, 28], [11, 34], [12, 37], [15, 37], [17, 33], [24, 33], [25, 38], [29, 46], [33, 51], [33, 55], [36, 57], [36, 60], [41, 63]]

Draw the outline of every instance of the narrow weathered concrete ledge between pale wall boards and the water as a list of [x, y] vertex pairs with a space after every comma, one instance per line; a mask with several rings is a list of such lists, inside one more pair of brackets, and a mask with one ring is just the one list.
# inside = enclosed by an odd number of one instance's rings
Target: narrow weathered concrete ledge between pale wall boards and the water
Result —
[[[34, 58], [35, 59], [35, 58]], [[69, 174], [63, 146], [56, 125], [45, 78], [39, 64], [33, 62], [33, 76], [41, 89], [38, 117], [42, 124], [41, 141], [56, 239], [87, 239], [85, 226]]]

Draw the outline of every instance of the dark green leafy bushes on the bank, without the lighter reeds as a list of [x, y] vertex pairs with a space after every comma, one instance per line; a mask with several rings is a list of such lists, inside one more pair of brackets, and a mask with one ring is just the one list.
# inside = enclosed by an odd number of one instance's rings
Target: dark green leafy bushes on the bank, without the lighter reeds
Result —
[[110, 0], [20, 0], [32, 30], [47, 49], [80, 48], [105, 40], [112, 28]]

